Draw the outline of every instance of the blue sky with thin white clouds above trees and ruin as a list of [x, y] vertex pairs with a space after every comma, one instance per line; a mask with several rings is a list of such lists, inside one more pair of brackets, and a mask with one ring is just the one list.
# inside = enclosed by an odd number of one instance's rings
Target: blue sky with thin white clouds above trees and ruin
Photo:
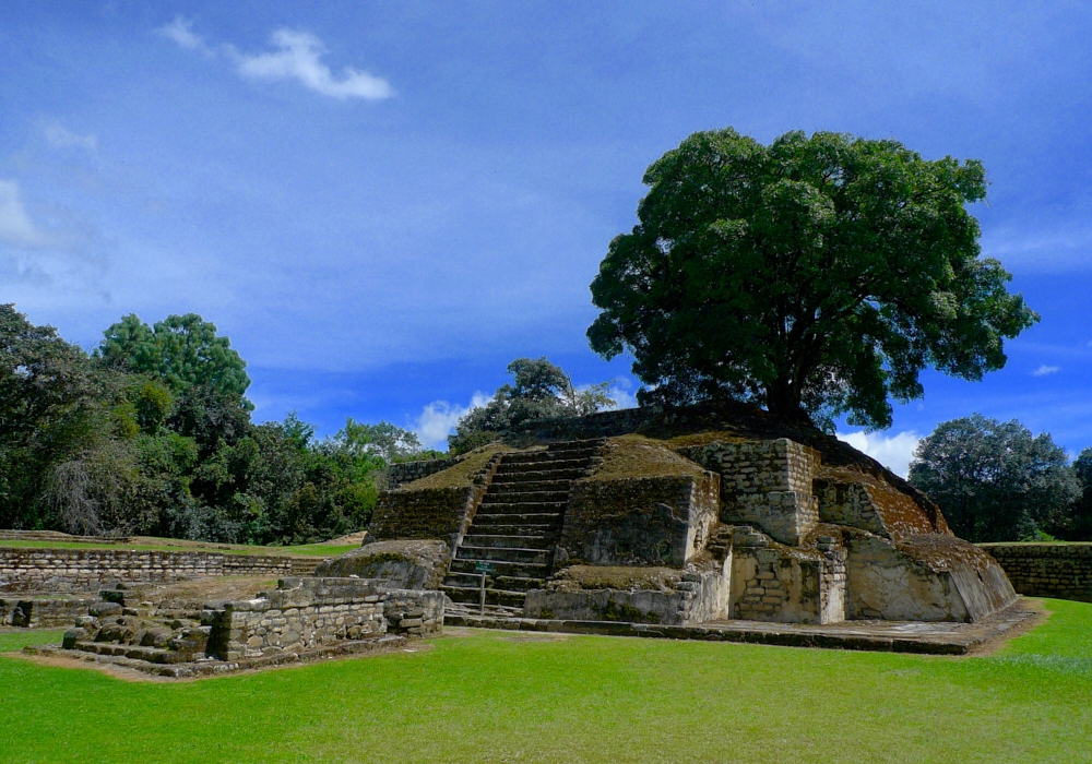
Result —
[[[894, 466], [972, 411], [1092, 445], [1092, 9], [1029, 2], [8, 2], [0, 301], [94, 346], [197, 312], [259, 419], [438, 442], [505, 366], [637, 387], [587, 285], [697, 130], [982, 159], [983, 249], [1042, 322], [986, 381], [926, 378]], [[847, 430], [848, 431], [848, 430]]]

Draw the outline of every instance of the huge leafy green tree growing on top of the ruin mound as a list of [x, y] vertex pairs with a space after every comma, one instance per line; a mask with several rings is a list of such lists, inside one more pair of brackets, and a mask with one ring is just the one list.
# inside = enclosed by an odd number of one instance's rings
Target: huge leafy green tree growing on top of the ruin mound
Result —
[[725, 396], [827, 428], [891, 422], [933, 366], [976, 380], [1037, 315], [980, 256], [980, 162], [897, 141], [699, 132], [649, 167], [639, 224], [610, 242], [587, 331], [629, 350], [642, 402]]

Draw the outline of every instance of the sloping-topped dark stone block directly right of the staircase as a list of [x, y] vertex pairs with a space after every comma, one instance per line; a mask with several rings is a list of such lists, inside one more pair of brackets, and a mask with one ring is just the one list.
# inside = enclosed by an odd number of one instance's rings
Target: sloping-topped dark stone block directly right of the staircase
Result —
[[578, 480], [569, 493], [558, 561], [681, 568], [716, 522], [713, 473]]

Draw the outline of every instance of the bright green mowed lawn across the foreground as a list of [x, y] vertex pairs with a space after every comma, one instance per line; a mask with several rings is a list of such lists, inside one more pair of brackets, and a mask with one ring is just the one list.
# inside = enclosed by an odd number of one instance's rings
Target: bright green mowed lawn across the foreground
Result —
[[0, 658], [0, 760], [1089, 762], [1092, 605], [1045, 604], [972, 658], [495, 631], [187, 683]]

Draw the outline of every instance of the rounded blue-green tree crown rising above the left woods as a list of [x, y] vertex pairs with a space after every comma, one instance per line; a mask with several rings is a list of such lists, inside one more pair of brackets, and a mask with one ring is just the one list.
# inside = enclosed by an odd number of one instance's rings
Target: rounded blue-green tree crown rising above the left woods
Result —
[[206, 387], [242, 397], [250, 386], [247, 362], [216, 325], [197, 313], [168, 315], [154, 326], [130, 313], [104, 333], [95, 356], [126, 371], [151, 374], [176, 394]]

